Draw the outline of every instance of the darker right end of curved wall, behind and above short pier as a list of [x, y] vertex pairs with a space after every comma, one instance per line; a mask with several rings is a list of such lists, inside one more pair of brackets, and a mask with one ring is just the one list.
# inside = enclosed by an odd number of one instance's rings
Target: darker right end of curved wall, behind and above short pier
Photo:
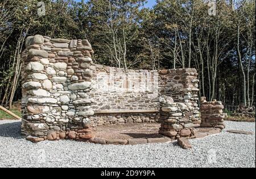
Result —
[[196, 69], [171, 69], [159, 71], [159, 96], [169, 96], [176, 103], [183, 103], [189, 108], [185, 117], [200, 124], [198, 105], [198, 83]]

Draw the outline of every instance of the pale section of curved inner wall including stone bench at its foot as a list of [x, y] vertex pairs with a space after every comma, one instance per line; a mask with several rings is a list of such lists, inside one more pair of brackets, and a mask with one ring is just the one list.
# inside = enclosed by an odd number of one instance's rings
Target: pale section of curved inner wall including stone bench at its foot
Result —
[[158, 71], [95, 65], [90, 120], [94, 125], [158, 121], [158, 76]]

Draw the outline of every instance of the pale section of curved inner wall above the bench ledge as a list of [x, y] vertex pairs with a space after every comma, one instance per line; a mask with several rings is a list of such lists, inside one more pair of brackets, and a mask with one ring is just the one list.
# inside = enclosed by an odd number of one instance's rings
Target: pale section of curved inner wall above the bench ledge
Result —
[[94, 110], [158, 109], [158, 71], [95, 65]]

